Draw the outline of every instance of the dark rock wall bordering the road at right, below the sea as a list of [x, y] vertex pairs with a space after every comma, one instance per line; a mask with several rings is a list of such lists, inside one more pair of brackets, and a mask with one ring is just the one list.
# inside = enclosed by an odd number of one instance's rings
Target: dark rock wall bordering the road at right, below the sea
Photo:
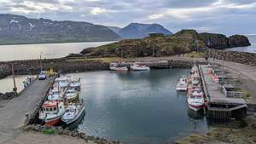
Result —
[[[209, 52], [210, 51], [210, 52]], [[218, 49], [207, 49], [206, 55], [212, 57], [214, 55], [215, 59], [237, 62], [245, 65], [256, 66], [256, 54], [247, 53], [247, 52], [238, 52], [238, 51], [229, 51], [229, 50], [218, 50]]]

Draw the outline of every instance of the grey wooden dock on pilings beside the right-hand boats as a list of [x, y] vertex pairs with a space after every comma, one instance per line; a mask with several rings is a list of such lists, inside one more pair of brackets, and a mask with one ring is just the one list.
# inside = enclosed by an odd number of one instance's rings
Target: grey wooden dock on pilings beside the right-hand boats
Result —
[[224, 95], [222, 86], [212, 81], [212, 74], [207, 74], [208, 68], [207, 65], [199, 66], [207, 97], [207, 117], [229, 119], [245, 115], [247, 102], [243, 98]]

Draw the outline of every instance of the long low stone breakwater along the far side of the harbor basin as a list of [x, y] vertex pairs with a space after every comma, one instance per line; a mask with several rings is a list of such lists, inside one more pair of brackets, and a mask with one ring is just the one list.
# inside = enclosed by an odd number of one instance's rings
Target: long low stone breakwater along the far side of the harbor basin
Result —
[[[127, 61], [129, 63], [129, 61]], [[195, 61], [185, 60], [157, 60], [157, 61], [141, 61], [142, 64], [150, 66], [150, 68], [190, 68]], [[4, 78], [12, 74], [12, 65], [15, 74], [38, 74], [40, 72], [40, 60], [14, 60], [0, 61], [0, 78]], [[85, 72], [96, 70], [108, 70], [109, 64], [102, 60], [94, 59], [44, 59], [42, 60], [43, 70], [53, 68], [55, 72]]]

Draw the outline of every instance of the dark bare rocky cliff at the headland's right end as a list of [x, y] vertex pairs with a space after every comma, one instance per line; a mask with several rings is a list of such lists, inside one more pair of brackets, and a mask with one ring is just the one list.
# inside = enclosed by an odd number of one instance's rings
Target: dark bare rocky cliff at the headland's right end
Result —
[[242, 35], [226, 37], [223, 34], [204, 32], [200, 33], [199, 36], [207, 44], [207, 47], [211, 49], [228, 49], [251, 45], [248, 38]]

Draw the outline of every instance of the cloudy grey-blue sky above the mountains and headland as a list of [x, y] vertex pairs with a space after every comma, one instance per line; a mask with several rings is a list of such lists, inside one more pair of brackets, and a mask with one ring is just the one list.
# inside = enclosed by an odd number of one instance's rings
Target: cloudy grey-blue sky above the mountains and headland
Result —
[[0, 13], [120, 27], [159, 23], [172, 32], [256, 33], [256, 0], [0, 0]]

